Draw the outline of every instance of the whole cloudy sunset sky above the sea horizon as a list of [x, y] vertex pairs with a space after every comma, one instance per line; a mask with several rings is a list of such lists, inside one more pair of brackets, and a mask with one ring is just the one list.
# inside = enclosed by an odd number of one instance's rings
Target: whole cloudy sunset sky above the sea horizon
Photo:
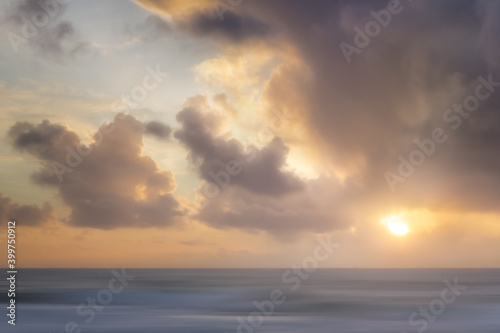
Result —
[[500, 267], [500, 2], [0, 13], [18, 266]]

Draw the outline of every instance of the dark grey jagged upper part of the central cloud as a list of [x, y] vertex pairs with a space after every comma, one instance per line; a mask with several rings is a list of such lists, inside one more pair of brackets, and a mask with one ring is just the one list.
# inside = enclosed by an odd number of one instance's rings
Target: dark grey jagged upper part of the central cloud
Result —
[[279, 138], [260, 150], [253, 148], [246, 152], [239, 141], [217, 136], [222, 120], [213, 113], [203, 113], [196, 106], [187, 107], [177, 114], [177, 121], [182, 128], [174, 136], [189, 149], [202, 179], [213, 181], [227, 163], [237, 161], [244, 172], [231, 180], [234, 185], [276, 196], [304, 188], [301, 179], [285, 170], [288, 148]]

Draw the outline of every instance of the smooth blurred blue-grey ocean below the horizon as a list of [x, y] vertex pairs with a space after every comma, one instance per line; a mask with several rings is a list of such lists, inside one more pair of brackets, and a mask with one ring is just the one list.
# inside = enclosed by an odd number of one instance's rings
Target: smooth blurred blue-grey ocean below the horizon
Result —
[[[300, 273], [300, 274], [299, 274]], [[1, 332], [500, 332], [500, 269], [20, 269]]]

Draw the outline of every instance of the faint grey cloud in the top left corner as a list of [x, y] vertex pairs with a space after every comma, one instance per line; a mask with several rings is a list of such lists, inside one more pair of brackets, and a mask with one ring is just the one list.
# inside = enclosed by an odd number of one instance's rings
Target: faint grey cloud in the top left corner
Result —
[[3, 20], [10, 25], [8, 38], [16, 52], [25, 47], [56, 61], [85, 52], [87, 43], [73, 24], [63, 20], [66, 4], [58, 1], [13, 1]]

